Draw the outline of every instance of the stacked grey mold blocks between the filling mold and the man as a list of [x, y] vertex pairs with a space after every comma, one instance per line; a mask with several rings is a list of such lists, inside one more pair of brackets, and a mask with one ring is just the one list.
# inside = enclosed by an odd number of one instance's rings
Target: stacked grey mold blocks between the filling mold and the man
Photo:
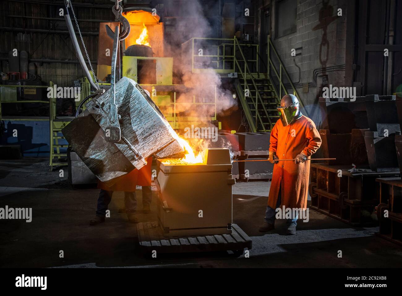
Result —
[[[239, 139], [240, 155], [238, 162], [240, 179], [246, 182], [251, 179], [272, 178], [273, 164], [268, 160], [269, 156], [269, 132], [237, 132]], [[262, 161], [250, 161], [262, 160]]]

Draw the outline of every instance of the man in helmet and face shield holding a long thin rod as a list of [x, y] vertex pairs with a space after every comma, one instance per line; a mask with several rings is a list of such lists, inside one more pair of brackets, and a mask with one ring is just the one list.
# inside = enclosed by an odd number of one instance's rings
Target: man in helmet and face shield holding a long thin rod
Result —
[[294, 95], [285, 95], [277, 109], [280, 120], [271, 130], [269, 145], [269, 161], [274, 163], [274, 169], [265, 222], [259, 230], [273, 230], [276, 212], [285, 206], [285, 209], [297, 213], [292, 219], [287, 219], [287, 234], [291, 235], [296, 234], [298, 218], [298, 211], [293, 209], [305, 210], [307, 205], [310, 162], [306, 160], [320, 147], [321, 137], [314, 122], [301, 114], [299, 101]]

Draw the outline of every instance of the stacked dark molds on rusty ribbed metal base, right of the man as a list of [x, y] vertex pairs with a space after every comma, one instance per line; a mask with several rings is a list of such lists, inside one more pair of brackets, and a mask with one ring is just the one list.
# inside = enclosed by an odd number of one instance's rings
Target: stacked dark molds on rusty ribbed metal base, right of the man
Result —
[[379, 197], [375, 179], [399, 176], [395, 97], [321, 97], [319, 103], [322, 155], [336, 157], [336, 161], [311, 164], [310, 207], [348, 224], [376, 223], [373, 212]]

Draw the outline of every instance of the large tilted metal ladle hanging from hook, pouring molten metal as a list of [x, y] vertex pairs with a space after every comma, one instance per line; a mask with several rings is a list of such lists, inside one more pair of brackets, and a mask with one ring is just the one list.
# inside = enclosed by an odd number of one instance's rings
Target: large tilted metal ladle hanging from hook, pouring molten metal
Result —
[[142, 168], [153, 154], [167, 157], [183, 152], [176, 132], [139, 84], [123, 77], [115, 93], [121, 129], [118, 143], [105, 137], [110, 90], [86, 103], [87, 109], [62, 130], [86, 166], [108, 186]]

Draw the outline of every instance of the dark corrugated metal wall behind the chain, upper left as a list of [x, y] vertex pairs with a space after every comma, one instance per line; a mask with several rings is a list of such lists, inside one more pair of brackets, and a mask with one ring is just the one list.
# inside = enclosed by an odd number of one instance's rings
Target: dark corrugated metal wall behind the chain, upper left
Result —
[[[95, 72], [98, 21], [114, 20], [112, 6], [113, 2], [109, 0], [73, 1], [74, 12], [88, 56], [91, 62], [95, 61], [92, 64]], [[18, 51], [27, 51], [30, 61], [32, 59], [52, 60], [52, 62], [35, 62], [37, 74], [47, 83], [53, 81], [59, 86], [71, 86], [74, 80], [84, 76], [64, 17], [59, 15], [61, 8], [64, 8], [63, 1], [0, 1], [0, 70], [2, 72], [8, 71], [8, 52], [16, 48]], [[74, 24], [74, 19], [72, 23]], [[80, 42], [78, 35], [77, 39]], [[81, 50], [85, 58], [83, 47]]]

